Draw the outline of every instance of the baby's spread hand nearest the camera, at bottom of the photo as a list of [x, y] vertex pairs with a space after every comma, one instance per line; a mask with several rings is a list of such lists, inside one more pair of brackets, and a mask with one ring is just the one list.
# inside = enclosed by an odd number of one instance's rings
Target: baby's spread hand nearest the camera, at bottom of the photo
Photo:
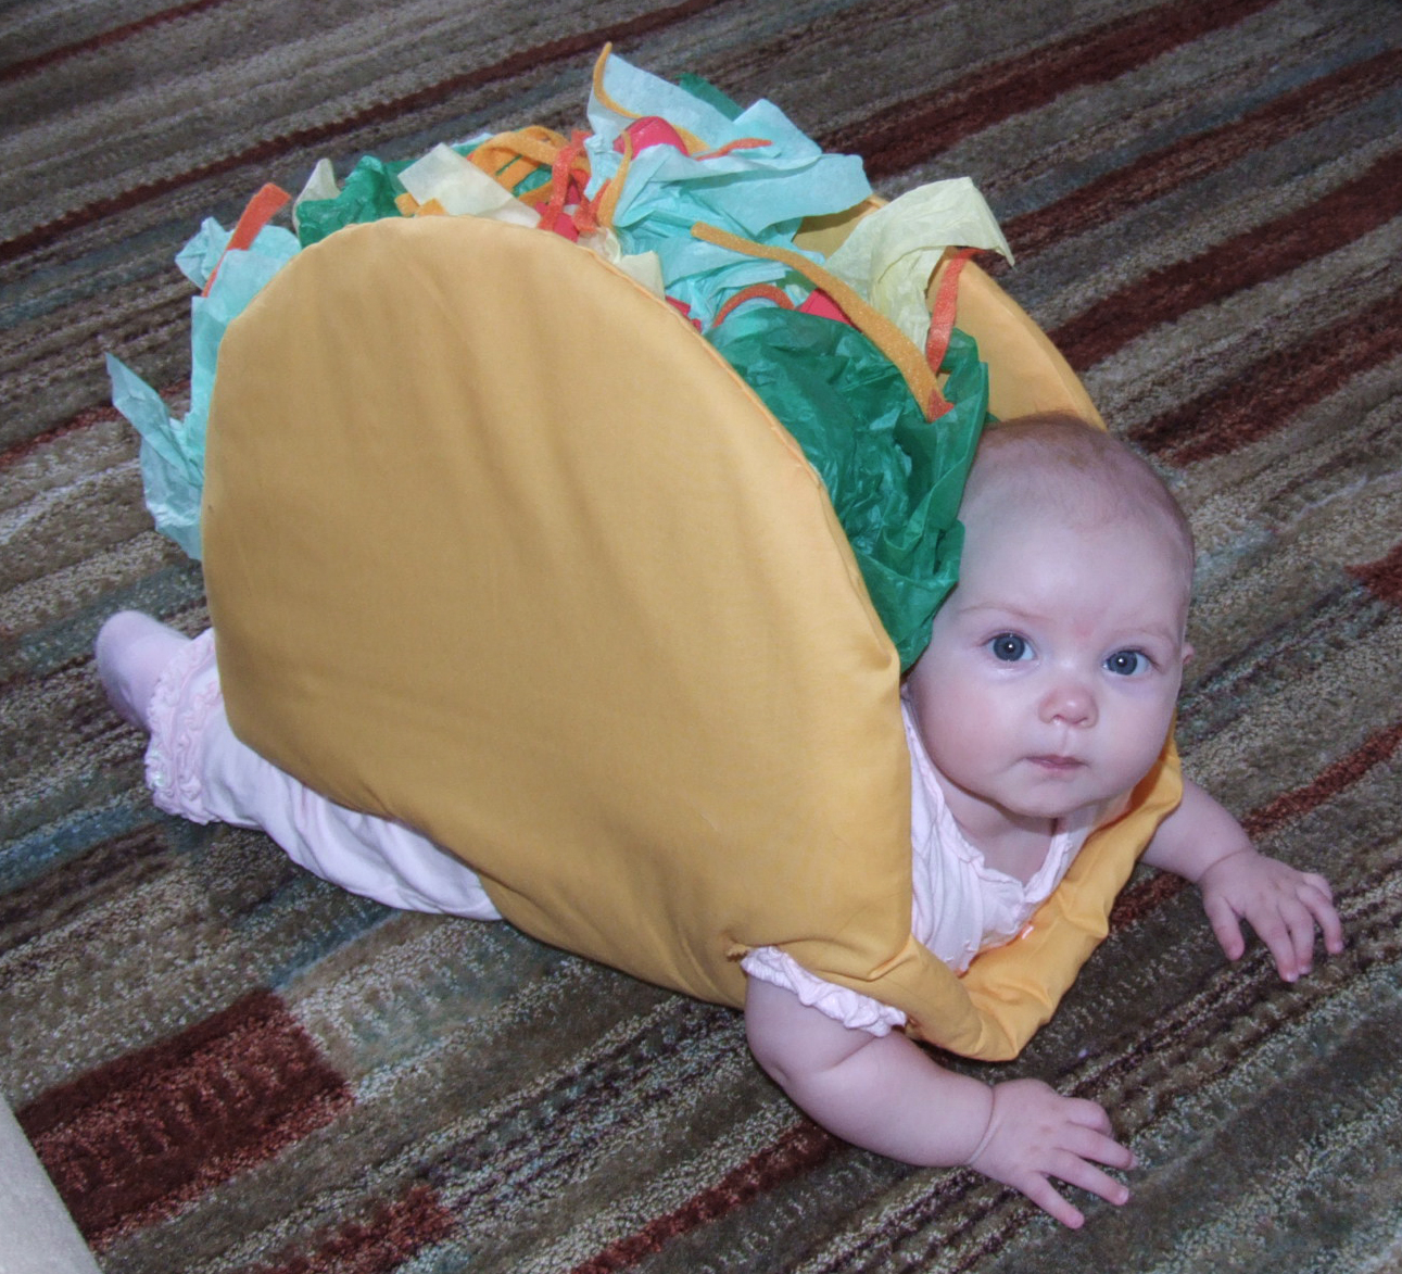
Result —
[[1040, 1079], [1014, 1079], [993, 1090], [993, 1114], [969, 1166], [1022, 1191], [1063, 1225], [1080, 1229], [1085, 1217], [1049, 1177], [1080, 1186], [1106, 1203], [1130, 1191], [1096, 1167], [1134, 1167], [1134, 1153], [1112, 1135], [1110, 1117], [1095, 1102], [1063, 1097]]

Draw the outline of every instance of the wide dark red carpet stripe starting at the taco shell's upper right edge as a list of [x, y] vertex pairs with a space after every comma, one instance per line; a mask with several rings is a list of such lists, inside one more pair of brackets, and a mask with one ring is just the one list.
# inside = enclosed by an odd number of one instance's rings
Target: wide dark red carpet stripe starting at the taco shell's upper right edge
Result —
[[1402, 212], [1402, 151], [1288, 216], [1145, 275], [1047, 335], [1084, 370], [1192, 310], [1323, 256]]

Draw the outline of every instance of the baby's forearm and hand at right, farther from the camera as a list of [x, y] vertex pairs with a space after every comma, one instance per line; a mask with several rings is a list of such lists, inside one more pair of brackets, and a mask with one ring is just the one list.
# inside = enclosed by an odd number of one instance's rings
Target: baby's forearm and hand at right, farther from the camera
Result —
[[1207, 919], [1231, 960], [1246, 949], [1242, 921], [1266, 943], [1287, 982], [1309, 973], [1315, 925], [1326, 950], [1343, 950], [1329, 882], [1258, 852], [1242, 826], [1197, 783], [1183, 781], [1183, 802], [1159, 824], [1144, 862], [1202, 890]]

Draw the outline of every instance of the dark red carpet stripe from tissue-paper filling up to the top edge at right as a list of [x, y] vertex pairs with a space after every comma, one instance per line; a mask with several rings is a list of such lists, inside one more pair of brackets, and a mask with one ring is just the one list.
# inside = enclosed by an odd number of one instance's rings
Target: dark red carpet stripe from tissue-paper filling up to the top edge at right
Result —
[[859, 154], [875, 182], [963, 137], [1035, 111], [1085, 84], [1105, 84], [1171, 49], [1231, 27], [1274, 0], [1175, 0], [981, 66], [923, 97], [823, 135], [824, 150]]

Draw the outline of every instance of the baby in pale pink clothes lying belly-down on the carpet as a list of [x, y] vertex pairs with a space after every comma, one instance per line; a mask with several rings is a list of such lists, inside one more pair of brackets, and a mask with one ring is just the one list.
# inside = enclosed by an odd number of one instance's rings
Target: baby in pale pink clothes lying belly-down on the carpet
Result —
[[[1123, 811], [1168, 736], [1192, 586], [1192, 534], [1143, 461], [1071, 418], [990, 430], [960, 509], [959, 584], [903, 691], [913, 771], [913, 932], [966, 968], [1008, 942], [1085, 838]], [[238, 743], [213, 635], [112, 617], [97, 663], [116, 709], [150, 730], [156, 803], [196, 821], [261, 827], [299, 863], [395, 907], [492, 919], [477, 876], [412, 830], [336, 806]], [[1287, 981], [1315, 929], [1342, 929], [1323, 879], [1258, 854], [1185, 782], [1145, 862], [1199, 884], [1231, 959], [1245, 919]], [[1050, 1179], [1129, 1198], [1102, 1166], [1133, 1167], [1105, 1111], [1044, 1083], [988, 1088], [942, 1069], [897, 1011], [819, 981], [777, 947], [746, 956], [746, 1026], [761, 1067], [813, 1118], [920, 1165], [967, 1163], [1070, 1226]]]

